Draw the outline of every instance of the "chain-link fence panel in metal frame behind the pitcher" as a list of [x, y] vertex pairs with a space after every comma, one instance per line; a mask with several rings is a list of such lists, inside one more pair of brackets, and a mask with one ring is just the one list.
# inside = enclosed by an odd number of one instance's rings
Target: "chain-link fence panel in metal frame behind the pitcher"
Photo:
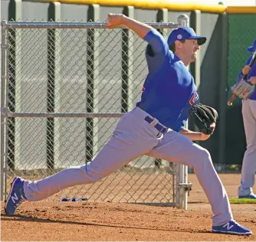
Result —
[[[164, 36], [178, 26], [151, 25]], [[101, 23], [3, 21], [2, 42], [6, 196], [16, 175], [38, 180], [93, 159], [118, 118], [139, 101], [147, 67], [144, 41], [133, 31], [108, 30]], [[184, 205], [186, 168], [155, 163], [143, 156], [102, 181], [48, 199]]]

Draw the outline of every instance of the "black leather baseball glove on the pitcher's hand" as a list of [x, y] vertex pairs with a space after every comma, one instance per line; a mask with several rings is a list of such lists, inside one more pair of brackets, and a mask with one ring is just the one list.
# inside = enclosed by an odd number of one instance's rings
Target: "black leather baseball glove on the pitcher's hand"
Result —
[[211, 135], [213, 131], [212, 123], [216, 123], [218, 119], [217, 111], [211, 106], [202, 103], [192, 105], [189, 111], [189, 119], [192, 119], [195, 126], [205, 135]]

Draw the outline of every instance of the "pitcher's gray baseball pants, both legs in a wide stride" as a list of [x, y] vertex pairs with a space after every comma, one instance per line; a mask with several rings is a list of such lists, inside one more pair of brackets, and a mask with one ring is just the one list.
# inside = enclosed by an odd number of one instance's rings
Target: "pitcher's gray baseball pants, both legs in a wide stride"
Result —
[[212, 165], [211, 155], [181, 134], [169, 129], [164, 135], [147, 123], [148, 113], [136, 107], [117, 123], [110, 141], [87, 165], [64, 169], [39, 181], [25, 181], [25, 197], [39, 201], [74, 185], [89, 184], [107, 177], [141, 155], [149, 155], [194, 168], [212, 206], [213, 225], [231, 220], [228, 195]]

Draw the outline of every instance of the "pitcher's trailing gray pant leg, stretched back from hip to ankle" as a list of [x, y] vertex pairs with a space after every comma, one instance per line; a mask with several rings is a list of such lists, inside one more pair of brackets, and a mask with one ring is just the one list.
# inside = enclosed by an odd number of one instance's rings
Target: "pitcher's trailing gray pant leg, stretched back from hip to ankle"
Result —
[[40, 201], [74, 185], [90, 184], [107, 177], [159, 143], [158, 131], [146, 123], [146, 113], [133, 110], [117, 124], [110, 141], [87, 165], [66, 168], [39, 181], [25, 181], [28, 201]]

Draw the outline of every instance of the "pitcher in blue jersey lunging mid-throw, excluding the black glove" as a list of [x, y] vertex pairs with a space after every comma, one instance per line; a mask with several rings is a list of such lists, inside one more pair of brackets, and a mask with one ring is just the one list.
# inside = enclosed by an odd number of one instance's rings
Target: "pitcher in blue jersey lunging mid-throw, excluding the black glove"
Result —
[[[149, 74], [143, 84], [141, 100], [120, 119], [113, 136], [91, 162], [64, 169], [39, 181], [15, 178], [5, 203], [5, 213], [15, 214], [23, 201], [39, 201], [64, 188], [99, 181], [139, 156], [149, 155], [194, 168], [212, 206], [213, 232], [250, 235], [248, 228], [233, 219], [228, 195], [212, 165], [211, 155], [192, 142], [208, 139], [214, 132], [215, 123], [210, 124], [210, 132], [204, 129], [206, 133], [184, 128], [189, 111], [199, 99], [194, 78], [187, 67], [196, 60], [206, 38], [196, 35], [192, 28], [183, 27], [173, 30], [166, 41], [149, 25], [125, 15], [109, 14], [107, 28], [119, 25], [126, 25], [148, 43]], [[202, 109], [199, 106], [201, 114]]]

